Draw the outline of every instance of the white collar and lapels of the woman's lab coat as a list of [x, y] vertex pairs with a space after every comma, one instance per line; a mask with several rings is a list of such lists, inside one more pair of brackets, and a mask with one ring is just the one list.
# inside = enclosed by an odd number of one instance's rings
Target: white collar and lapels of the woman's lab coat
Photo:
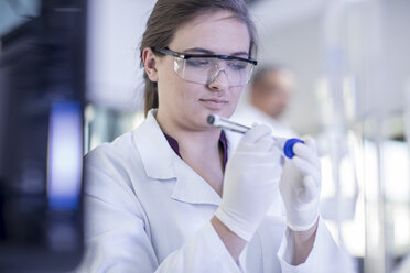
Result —
[[[145, 173], [155, 179], [176, 178], [171, 197], [191, 204], [220, 204], [219, 195], [175, 154], [154, 116], [157, 110], [149, 111], [147, 120], [134, 131], [134, 143], [140, 152]], [[236, 138], [226, 133], [228, 157], [236, 146]], [[161, 151], [155, 153], [154, 151]]]

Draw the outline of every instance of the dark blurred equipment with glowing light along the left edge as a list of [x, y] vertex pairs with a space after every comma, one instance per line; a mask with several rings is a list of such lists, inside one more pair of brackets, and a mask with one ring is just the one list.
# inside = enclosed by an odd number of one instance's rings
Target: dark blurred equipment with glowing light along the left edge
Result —
[[1, 272], [83, 258], [85, 3], [0, 1]]

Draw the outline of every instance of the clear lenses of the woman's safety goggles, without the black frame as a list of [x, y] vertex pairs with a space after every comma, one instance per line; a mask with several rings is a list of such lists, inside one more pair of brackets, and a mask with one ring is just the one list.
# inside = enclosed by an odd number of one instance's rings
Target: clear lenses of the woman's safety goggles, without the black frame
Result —
[[253, 69], [253, 65], [238, 59], [218, 59], [192, 57], [188, 59], [175, 58], [174, 69], [186, 81], [207, 85], [220, 73], [225, 72], [229, 86], [245, 86]]

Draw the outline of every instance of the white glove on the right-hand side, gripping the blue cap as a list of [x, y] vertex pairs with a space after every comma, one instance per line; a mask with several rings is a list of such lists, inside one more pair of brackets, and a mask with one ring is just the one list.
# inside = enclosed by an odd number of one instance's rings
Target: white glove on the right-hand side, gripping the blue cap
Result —
[[279, 184], [287, 210], [288, 227], [294, 231], [309, 230], [317, 221], [321, 193], [321, 162], [316, 142], [309, 138], [293, 146], [294, 156], [284, 163]]

